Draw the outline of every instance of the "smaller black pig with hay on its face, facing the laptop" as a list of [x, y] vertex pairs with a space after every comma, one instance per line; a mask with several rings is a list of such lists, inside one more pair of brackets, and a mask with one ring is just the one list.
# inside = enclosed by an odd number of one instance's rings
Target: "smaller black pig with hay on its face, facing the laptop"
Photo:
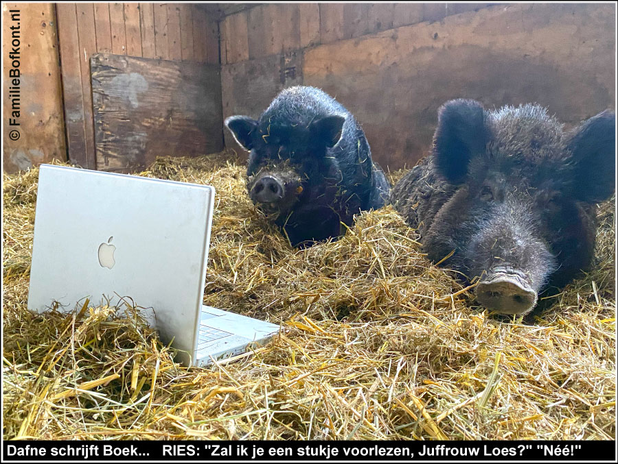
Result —
[[251, 200], [293, 246], [340, 236], [341, 223], [350, 225], [354, 214], [389, 198], [361, 125], [322, 90], [287, 88], [257, 121], [232, 116], [225, 125], [251, 152]]

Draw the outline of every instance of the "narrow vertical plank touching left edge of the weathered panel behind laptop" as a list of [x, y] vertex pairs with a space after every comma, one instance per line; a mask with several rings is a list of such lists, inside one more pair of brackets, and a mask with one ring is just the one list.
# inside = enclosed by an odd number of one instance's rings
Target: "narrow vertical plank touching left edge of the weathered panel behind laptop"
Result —
[[[94, 5], [76, 3], [77, 29], [79, 38], [80, 77], [82, 82], [82, 103], [84, 106], [84, 136], [86, 148], [86, 166], [95, 167], [94, 127], [92, 117], [92, 88], [90, 84], [90, 56], [97, 51], [95, 37]], [[112, 33], [113, 47], [113, 33]]]

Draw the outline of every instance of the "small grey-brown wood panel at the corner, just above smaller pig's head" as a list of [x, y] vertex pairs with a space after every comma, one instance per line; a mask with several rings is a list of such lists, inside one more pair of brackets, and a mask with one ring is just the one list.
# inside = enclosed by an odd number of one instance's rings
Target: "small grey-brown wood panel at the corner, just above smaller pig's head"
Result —
[[[222, 66], [223, 117], [233, 114], [259, 117], [279, 91], [302, 84], [302, 69], [301, 52], [271, 55]], [[228, 130], [225, 130], [224, 135], [226, 147], [244, 153]]]

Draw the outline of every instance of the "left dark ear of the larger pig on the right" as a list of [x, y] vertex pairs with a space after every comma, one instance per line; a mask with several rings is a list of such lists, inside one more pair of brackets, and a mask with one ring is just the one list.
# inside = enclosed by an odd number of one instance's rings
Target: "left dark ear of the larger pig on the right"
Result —
[[433, 136], [437, 171], [452, 184], [464, 181], [470, 159], [485, 149], [485, 110], [474, 100], [447, 101], [438, 110]]

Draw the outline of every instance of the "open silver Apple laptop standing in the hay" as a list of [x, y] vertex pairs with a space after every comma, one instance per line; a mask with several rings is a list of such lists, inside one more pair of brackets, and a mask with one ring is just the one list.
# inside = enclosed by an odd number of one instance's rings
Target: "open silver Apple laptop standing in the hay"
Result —
[[204, 306], [214, 188], [42, 164], [28, 308], [147, 308], [176, 358], [203, 366], [265, 343], [279, 326]]

